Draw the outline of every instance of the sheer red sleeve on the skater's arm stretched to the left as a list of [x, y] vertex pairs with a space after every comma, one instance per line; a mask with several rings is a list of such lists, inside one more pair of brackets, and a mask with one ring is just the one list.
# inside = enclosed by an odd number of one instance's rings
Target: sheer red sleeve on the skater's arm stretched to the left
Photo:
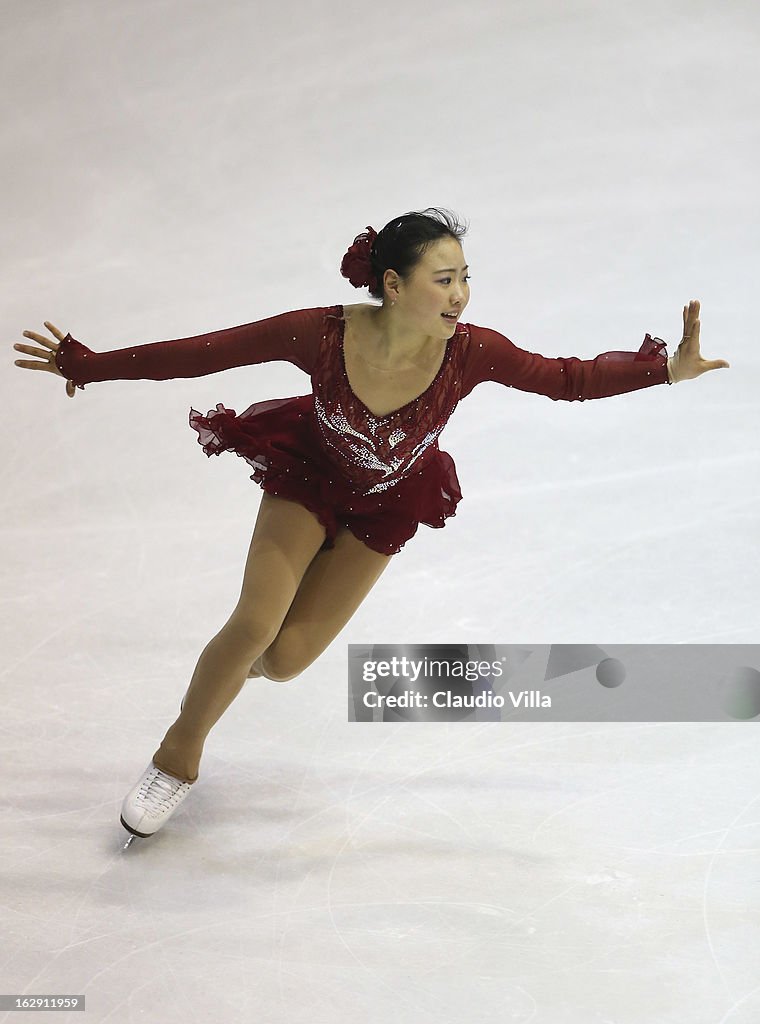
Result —
[[113, 352], [93, 352], [68, 334], [55, 353], [55, 366], [83, 390], [85, 384], [93, 381], [204, 377], [231, 367], [272, 359], [286, 359], [310, 375], [324, 316], [323, 307], [296, 309], [210, 334]]

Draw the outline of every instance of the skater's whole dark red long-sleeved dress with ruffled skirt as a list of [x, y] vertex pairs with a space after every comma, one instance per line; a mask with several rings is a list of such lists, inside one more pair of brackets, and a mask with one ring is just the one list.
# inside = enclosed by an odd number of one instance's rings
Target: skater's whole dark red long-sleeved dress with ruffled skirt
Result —
[[604, 398], [670, 383], [667, 349], [648, 334], [637, 352], [550, 358], [517, 348], [489, 328], [458, 324], [426, 390], [376, 417], [348, 383], [342, 305], [298, 309], [241, 327], [113, 352], [93, 352], [69, 334], [55, 365], [78, 387], [105, 380], [201, 377], [286, 359], [311, 378], [311, 392], [258, 401], [237, 415], [221, 403], [189, 425], [206, 455], [235, 452], [264, 490], [299, 502], [325, 526], [323, 548], [343, 524], [370, 548], [394, 554], [420, 523], [440, 527], [462, 494], [438, 435], [457, 403], [481, 381], [553, 400]]

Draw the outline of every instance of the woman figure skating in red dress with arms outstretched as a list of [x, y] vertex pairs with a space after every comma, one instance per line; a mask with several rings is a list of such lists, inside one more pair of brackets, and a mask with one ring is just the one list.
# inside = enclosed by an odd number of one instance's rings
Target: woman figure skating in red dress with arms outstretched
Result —
[[357, 234], [341, 273], [380, 301], [299, 309], [174, 341], [94, 352], [64, 336], [25, 331], [43, 346], [15, 360], [67, 379], [66, 390], [107, 380], [200, 377], [286, 359], [311, 378], [308, 394], [221, 403], [189, 425], [207, 456], [235, 452], [264, 494], [238, 603], [204, 648], [151, 764], [127, 794], [133, 836], [162, 827], [198, 779], [206, 737], [247, 678], [293, 679], [332, 643], [420, 523], [441, 527], [462, 495], [438, 435], [481, 381], [585, 401], [728, 367], [700, 353], [700, 303], [683, 307], [674, 355], [645, 336], [637, 352], [550, 358], [489, 328], [462, 323], [470, 300], [466, 228], [429, 208]]

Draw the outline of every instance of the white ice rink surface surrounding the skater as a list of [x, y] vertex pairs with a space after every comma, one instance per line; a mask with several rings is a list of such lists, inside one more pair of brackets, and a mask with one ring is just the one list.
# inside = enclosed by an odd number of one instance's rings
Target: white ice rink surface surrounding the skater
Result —
[[[758, 640], [754, 3], [6, 0], [0, 1024], [757, 1024], [757, 721], [351, 723], [347, 644]], [[480, 384], [464, 494], [288, 684], [251, 681], [151, 840], [119, 823], [240, 593], [260, 488], [191, 406], [286, 362], [13, 366], [367, 301], [367, 225], [469, 223], [465, 322], [716, 370], [604, 400]], [[760, 666], [758, 666], [760, 668]]]

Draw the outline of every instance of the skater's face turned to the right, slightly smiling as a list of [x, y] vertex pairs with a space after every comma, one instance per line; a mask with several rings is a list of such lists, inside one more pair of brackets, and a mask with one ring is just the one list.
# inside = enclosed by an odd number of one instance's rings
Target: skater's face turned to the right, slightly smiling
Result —
[[[399, 286], [397, 306], [425, 334], [450, 338], [470, 301], [462, 246], [456, 239], [433, 243], [410, 278]], [[456, 319], [441, 314], [454, 312]]]

